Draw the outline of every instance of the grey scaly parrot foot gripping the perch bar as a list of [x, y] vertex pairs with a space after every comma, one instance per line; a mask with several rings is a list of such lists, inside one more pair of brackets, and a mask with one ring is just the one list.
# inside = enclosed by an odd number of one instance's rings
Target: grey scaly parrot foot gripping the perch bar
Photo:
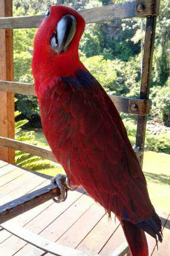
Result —
[[71, 186], [68, 183], [67, 175], [63, 175], [63, 174], [57, 174], [56, 177], [52, 178], [51, 183], [56, 183], [61, 191], [61, 194], [57, 196], [57, 199], [53, 198], [53, 201], [55, 203], [64, 202], [67, 199], [68, 190], [73, 191], [77, 189], [77, 186]]

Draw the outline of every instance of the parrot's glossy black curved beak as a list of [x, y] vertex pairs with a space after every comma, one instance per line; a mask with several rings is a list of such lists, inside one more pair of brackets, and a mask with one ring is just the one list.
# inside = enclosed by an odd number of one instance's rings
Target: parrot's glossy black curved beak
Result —
[[77, 21], [71, 14], [63, 16], [57, 23], [57, 33], [51, 38], [51, 49], [57, 54], [65, 52], [76, 33]]

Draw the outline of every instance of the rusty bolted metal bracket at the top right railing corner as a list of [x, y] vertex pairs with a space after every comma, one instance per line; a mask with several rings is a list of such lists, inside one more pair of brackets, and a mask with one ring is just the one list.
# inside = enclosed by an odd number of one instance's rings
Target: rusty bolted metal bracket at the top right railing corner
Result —
[[158, 16], [160, 0], [136, 0], [135, 14], [136, 16]]

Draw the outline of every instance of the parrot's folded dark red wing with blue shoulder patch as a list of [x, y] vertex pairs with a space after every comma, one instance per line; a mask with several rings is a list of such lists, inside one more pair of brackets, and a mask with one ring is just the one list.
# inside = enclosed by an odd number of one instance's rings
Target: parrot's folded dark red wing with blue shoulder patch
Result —
[[109, 214], [128, 215], [134, 222], [150, 217], [146, 180], [110, 97], [87, 70], [61, 80], [70, 92], [56, 155], [70, 182], [82, 184]]

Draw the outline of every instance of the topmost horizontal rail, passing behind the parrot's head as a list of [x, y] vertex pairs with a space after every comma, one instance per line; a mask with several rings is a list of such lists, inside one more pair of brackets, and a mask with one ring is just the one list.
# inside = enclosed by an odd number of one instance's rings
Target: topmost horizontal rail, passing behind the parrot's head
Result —
[[[147, 6], [141, 14], [138, 12], [136, 1], [124, 2], [119, 4], [112, 4], [109, 6], [102, 6], [92, 9], [78, 11], [84, 17], [86, 23], [122, 20], [125, 18], [149, 15], [157, 15], [156, 10], [152, 7], [154, 0], [142, 0], [142, 3]], [[136, 8], [137, 10], [136, 10]], [[22, 29], [22, 28], [35, 28], [40, 26], [45, 15], [25, 16], [25, 17], [10, 17], [0, 19], [0, 29]]]

